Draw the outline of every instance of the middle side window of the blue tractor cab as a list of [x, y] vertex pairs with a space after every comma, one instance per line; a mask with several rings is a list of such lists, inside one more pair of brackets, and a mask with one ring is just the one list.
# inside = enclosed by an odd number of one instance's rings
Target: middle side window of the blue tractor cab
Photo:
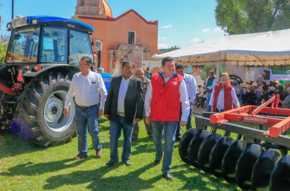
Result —
[[67, 63], [67, 30], [43, 27], [39, 62]]

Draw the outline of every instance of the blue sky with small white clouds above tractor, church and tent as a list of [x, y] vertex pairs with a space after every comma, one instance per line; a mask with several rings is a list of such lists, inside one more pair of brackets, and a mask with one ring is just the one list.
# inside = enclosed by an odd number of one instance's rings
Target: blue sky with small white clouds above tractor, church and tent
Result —
[[[1, 29], [11, 20], [11, 0], [0, 0]], [[158, 20], [158, 48], [185, 47], [224, 35], [215, 24], [214, 0], [107, 0], [113, 17], [134, 9], [146, 20]], [[16, 15], [53, 15], [70, 18], [77, 0], [14, 0]], [[1, 31], [3, 32], [3, 31]], [[6, 32], [5, 32], [6, 33]]]

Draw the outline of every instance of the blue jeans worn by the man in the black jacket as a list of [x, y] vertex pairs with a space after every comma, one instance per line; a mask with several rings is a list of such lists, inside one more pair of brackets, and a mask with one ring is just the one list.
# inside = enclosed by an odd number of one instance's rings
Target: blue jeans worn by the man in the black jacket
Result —
[[113, 162], [119, 161], [118, 156], [118, 139], [121, 136], [121, 130], [123, 129], [123, 152], [122, 162], [129, 161], [131, 155], [131, 138], [134, 125], [128, 125], [125, 121], [125, 117], [116, 115], [116, 121], [110, 121], [110, 160]]

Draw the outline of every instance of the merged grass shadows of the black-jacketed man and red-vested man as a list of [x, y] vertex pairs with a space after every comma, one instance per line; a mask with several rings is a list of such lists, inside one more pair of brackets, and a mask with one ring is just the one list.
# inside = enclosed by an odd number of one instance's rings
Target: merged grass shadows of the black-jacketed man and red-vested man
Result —
[[126, 175], [104, 177], [105, 174], [116, 170], [122, 163], [117, 163], [111, 167], [103, 166], [95, 170], [77, 171], [70, 174], [50, 177], [43, 189], [57, 189], [63, 185], [77, 185], [90, 183], [86, 188], [91, 190], [144, 190], [154, 188], [154, 183], [161, 179], [160, 175], [144, 180], [139, 176], [150, 169], [152, 164], [148, 164]]

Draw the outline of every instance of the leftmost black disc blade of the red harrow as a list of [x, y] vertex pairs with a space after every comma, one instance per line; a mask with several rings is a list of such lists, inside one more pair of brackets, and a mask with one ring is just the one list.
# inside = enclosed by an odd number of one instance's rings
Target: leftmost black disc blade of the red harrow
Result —
[[195, 136], [195, 128], [188, 129], [180, 139], [178, 153], [181, 160], [185, 163], [189, 163], [189, 158], [187, 156], [188, 146], [191, 139]]

